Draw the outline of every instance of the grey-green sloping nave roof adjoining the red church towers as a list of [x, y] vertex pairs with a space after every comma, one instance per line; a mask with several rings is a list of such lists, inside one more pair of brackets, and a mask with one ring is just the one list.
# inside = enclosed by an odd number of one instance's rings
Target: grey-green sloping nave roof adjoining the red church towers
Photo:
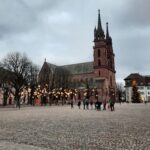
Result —
[[93, 62], [64, 65], [61, 67], [69, 70], [71, 74], [91, 73], [94, 71]]

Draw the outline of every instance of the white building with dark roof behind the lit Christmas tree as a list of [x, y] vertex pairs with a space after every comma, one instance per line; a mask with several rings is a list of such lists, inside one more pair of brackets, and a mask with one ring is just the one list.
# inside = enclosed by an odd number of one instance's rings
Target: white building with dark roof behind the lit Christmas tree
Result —
[[150, 76], [143, 76], [139, 73], [132, 73], [125, 79], [126, 100], [132, 102], [132, 82], [137, 84], [138, 92], [142, 101], [150, 101]]

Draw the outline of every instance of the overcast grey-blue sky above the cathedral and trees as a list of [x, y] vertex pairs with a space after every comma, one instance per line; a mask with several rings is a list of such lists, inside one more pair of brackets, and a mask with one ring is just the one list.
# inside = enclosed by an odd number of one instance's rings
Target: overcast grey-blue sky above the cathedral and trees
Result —
[[115, 53], [116, 78], [150, 75], [150, 0], [0, 0], [0, 61], [26, 53], [35, 64], [93, 61], [98, 9]]

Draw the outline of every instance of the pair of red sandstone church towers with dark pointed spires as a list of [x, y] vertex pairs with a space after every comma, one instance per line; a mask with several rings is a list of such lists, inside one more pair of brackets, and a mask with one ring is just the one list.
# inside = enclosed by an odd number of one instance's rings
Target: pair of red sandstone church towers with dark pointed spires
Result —
[[106, 38], [101, 24], [100, 10], [98, 10], [98, 26], [94, 29], [93, 67], [95, 85], [102, 89], [102, 95], [110, 95], [116, 90], [114, 53], [112, 39], [106, 23]]

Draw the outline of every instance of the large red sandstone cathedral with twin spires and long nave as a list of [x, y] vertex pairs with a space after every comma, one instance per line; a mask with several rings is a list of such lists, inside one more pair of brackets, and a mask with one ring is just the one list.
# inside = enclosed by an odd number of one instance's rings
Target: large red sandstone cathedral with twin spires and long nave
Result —
[[94, 29], [93, 42], [93, 61], [56, 66], [45, 60], [39, 73], [39, 83], [48, 84], [51, 88], [97, 88], [102, 95], [114, 94], [115, 55], [108, 23], [106, 23], [106, 33], [102, 28], [100, 10], [98, 10], [98, 24]]

